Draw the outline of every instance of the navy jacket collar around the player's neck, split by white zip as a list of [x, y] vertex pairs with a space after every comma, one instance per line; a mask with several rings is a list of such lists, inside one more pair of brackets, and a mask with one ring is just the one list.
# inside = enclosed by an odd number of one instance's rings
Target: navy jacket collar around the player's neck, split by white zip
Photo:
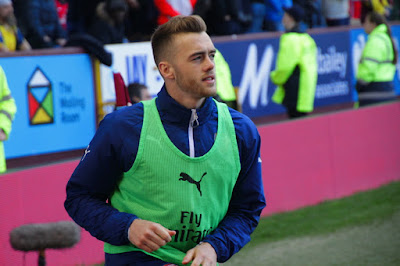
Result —
[[[175, 101], [167, 92], [165, 85], [157, 94], [156, 105], [160, 113], [161, 121], [183, 125], [189, 124], [192, 110], [187, 109]], [[215, 108], [216, 104], [213, 99], [211, 97], [206, 98], [203, 105], [196, 109], [199, 125], [204, 124], [210, 118], [213, 110], [216, 110]]]

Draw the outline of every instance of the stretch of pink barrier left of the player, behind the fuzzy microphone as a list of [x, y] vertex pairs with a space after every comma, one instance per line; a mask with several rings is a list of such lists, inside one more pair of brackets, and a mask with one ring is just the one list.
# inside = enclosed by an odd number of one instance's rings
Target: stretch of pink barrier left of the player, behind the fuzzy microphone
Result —
[[[77, 164], [75, 160], [0, 176], [0, 265], [37, 265], [37, 252], [13, 250], [9, 233], [23, 224], [71, 220], [64, 209], [65, 186]], [[74, 247], [46, 250], [48, 266], [91, 265], [102, 261], [102, 242], [84, 230]]]

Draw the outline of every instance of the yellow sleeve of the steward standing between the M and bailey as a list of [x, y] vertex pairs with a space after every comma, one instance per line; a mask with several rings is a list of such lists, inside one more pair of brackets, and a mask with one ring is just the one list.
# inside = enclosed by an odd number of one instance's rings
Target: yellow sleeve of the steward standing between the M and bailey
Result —
[[271, 72], [271, 80], [276, 85], [284, 85], [299, 63], [301, 44], [296, 40], [291, 33], [285, 33], [279, 41], [276, 68]]

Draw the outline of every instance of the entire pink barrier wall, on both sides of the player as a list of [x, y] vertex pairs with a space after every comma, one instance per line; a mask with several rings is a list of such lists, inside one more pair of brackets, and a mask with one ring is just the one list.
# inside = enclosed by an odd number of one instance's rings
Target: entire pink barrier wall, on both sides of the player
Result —
[[[260, 126], [263, 215], [293, 210], [400, 180], [400, 103]], [[0, 265], [36, 265], [14, 251], [9, 232], [27, 223], [70, 220], [65, 185], [78, 161], [0, 176]], [[25, 254], [25, 255], [24, 255]], [[48, 250], [47, 265], [94, 264], [102, 243], [82, 230], [75, 247]]]

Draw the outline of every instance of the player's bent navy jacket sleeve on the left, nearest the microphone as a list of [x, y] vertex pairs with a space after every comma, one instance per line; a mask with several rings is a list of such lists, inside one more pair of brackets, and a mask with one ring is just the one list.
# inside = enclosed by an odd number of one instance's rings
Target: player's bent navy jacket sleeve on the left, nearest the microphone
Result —
[[72, 219], [92, 236], [113, 245], [125, 245], [129, 243], [129, 226], [137, 217], [119, 212], [107, 199], [123, 171], [133, 164], [132, 161], [123, 162], [122, 158], [134, 156], [124, 154], [126, 148], [118, 133], [123, 129], [116, 121], [118, 119], [111, 114], [100, 124], [67, 184], [64, 206]]

